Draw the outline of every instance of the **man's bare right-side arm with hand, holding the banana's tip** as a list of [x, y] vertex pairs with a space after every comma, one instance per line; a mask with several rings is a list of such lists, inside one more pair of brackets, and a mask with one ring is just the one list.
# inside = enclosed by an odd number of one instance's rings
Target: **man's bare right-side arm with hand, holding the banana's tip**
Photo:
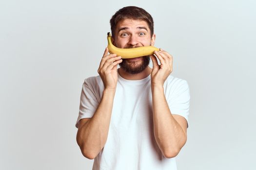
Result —
[[186, 119], [172, 115], [166, 102], [163, 84], [172, 72], [173, 58], [166, 51], [155, 51], [157, 58], [151, 55], [153, 69], [151, 73], [151, 89], [153, 102], [154, 135], [162, 154], [167, 157], [175, 157], [186, 143], [187, 122]]

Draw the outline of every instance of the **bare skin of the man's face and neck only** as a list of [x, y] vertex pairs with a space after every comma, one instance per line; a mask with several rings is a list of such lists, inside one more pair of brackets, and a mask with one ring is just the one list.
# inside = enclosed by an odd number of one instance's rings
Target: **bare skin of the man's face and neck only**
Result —
[[[115, 32], [115, 38], [112, 43], [118, 48], [135, 48], [142, 46], [150, 46], [155, 44], [156, 35], [151, 37], [148, 24], [143, 20], [125, 19], [118, 22]], [[127, 65], [134, 68], [141, 65], [142, 57], [134, 59], [126, 59]], [[151, 73], [151, 68], [147, 67], [138, 74], [129, 74], [124, 69], [119, 68], [119, 74], [127, 80], [140, 80], [147, 77]]]

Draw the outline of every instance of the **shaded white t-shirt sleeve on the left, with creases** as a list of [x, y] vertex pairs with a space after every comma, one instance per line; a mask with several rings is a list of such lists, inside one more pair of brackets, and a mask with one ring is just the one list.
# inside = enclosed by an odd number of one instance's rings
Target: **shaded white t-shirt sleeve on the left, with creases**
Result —
[[80, 96], [79, 116], [76, 122], [77, 128], [80, 119], [93, 117], [98, 104], [99, 102], [92, 83], [90, 83], [89, 79], [85, 79]]

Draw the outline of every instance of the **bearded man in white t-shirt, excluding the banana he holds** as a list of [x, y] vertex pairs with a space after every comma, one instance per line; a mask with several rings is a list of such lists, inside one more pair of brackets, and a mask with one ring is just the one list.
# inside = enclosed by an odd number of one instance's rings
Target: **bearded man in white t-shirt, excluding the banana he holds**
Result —
[[[124, 7], [110, 24], [118, 48], [154, 46], [153, 18], [142, 8]], [[176, 170], [175, 156], [187, 139], [190, 94], [185, 80], [170, 75], [172, 65], [163, 50], [121, 59], [105, 49], [99, 76], [84, 81], [76, 123], [78, 145], [94, 159], [93, 170]]]

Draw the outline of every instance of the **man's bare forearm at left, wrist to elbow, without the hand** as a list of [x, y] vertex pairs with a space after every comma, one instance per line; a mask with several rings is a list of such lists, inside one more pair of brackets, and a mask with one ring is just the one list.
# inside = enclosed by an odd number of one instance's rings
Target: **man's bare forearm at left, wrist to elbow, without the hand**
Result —
[[109, 130], [115, 91], [104, 90], [94, 116], [78, 132], [82, 153], [95, 157], [104, 147]]

